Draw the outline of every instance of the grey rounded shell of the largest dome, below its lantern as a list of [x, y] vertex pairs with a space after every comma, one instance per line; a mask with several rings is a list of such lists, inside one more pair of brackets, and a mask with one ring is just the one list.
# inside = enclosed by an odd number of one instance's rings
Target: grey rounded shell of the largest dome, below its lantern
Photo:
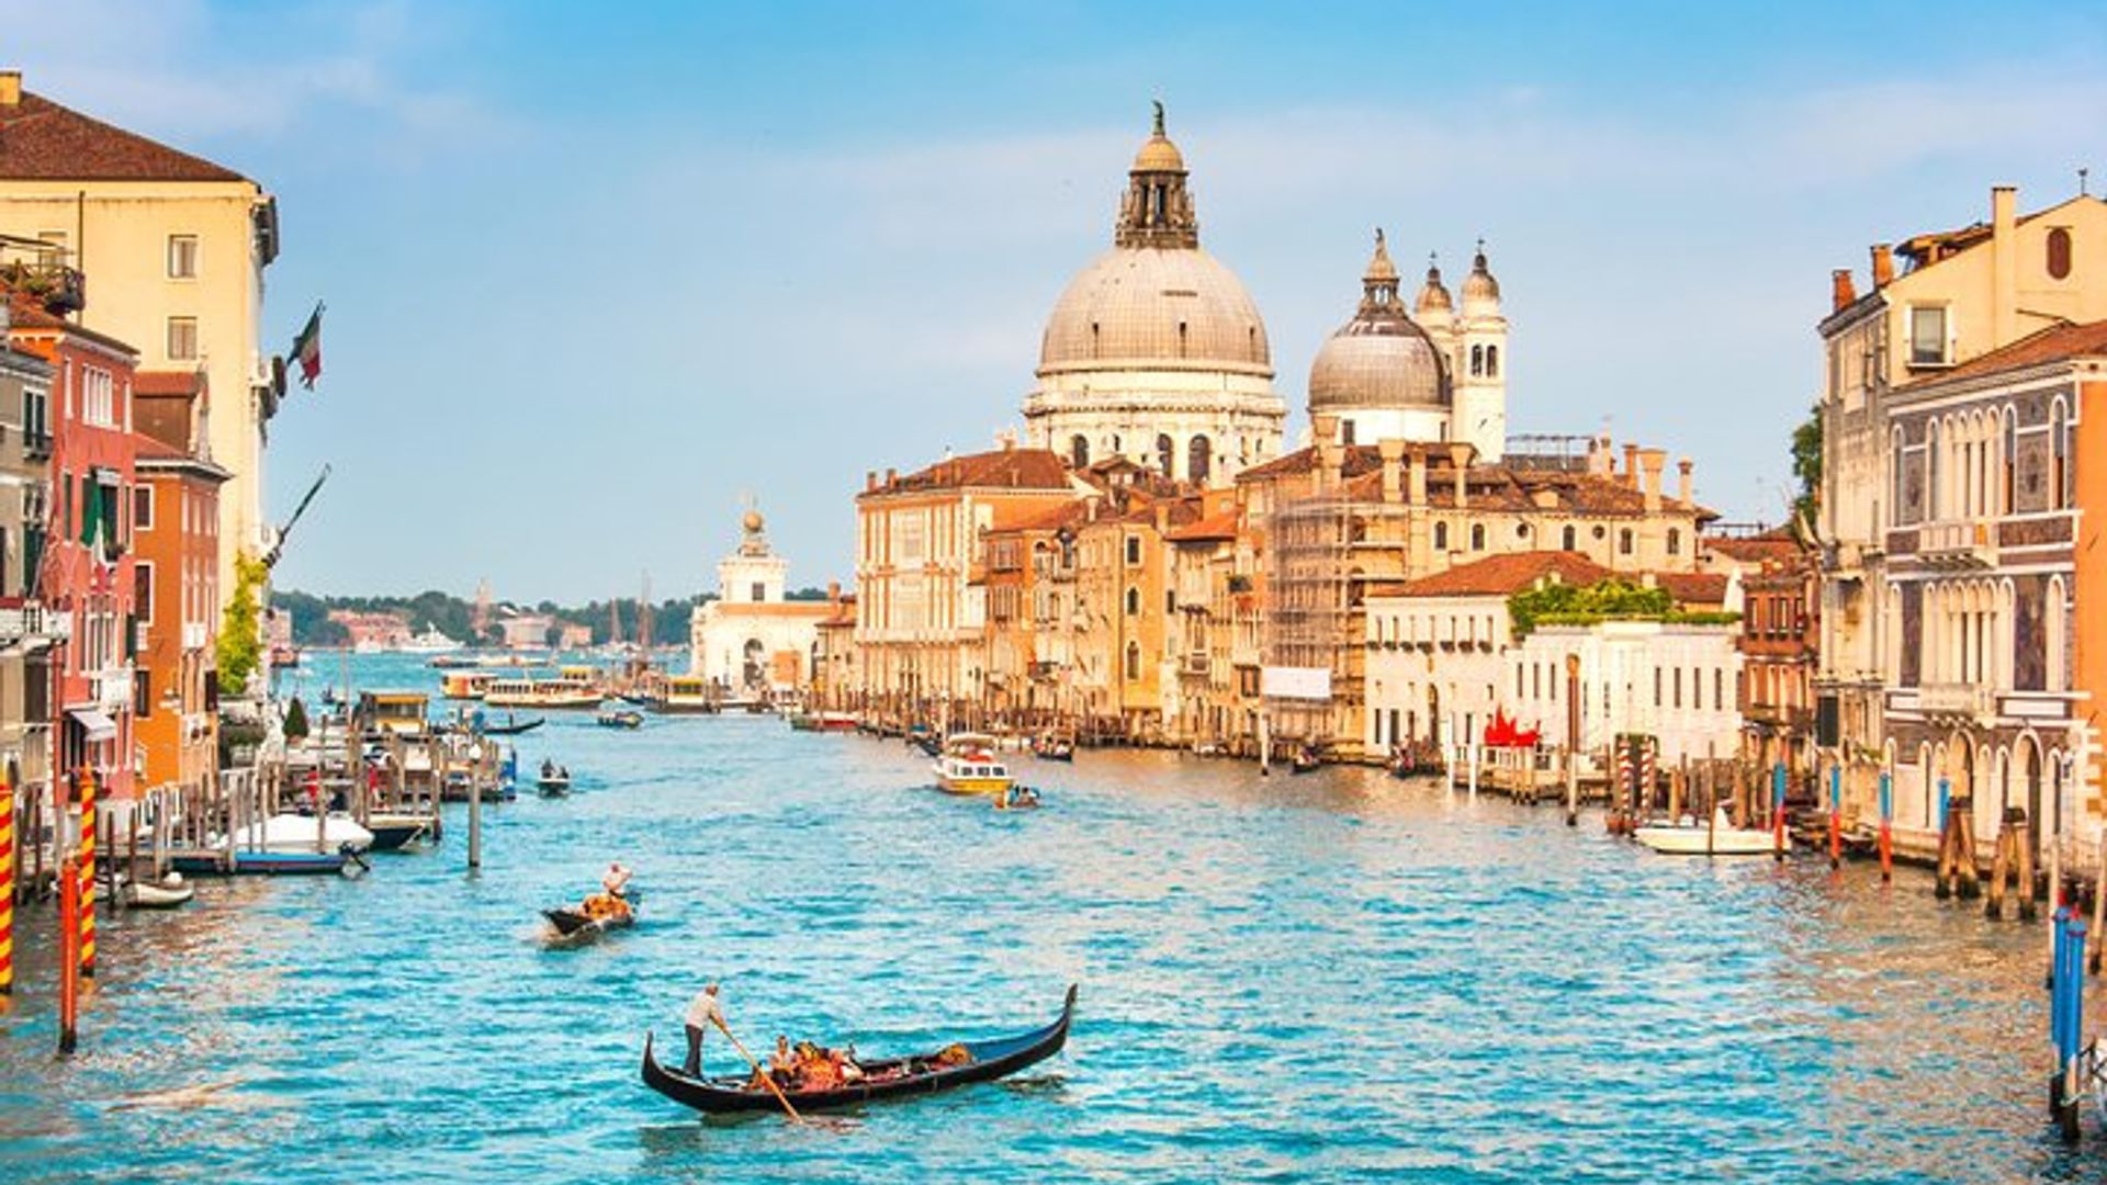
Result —
[[1199, 247], [1115, 247], [1047, 318], [1039, 373], [1195, 369], [1273, 375], [1266, 325], [1237, 274]]

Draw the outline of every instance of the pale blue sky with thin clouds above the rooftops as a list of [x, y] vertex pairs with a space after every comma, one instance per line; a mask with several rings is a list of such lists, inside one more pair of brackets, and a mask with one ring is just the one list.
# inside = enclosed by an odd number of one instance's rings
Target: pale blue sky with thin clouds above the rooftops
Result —
[[[1308, 363], [1374, 228], [1500, 278], [1511, 432], [1778, 521], [1829, 272], [2107, 186], [2099, 4], [0, 0], [29, 91], [278, 196], [270, 426], [312, 592], [702, 592], [752, 498], [853, 580], [866, 470], [1022, 424], [1150, 99], [1201, 242]], [[93, 291], [93, 287], [91, 287]]]

